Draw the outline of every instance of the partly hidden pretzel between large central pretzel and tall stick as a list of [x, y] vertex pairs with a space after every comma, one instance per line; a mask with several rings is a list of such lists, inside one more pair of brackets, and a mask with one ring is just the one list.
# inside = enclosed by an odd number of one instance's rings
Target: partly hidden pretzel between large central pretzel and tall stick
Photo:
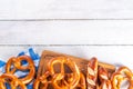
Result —
[[74, 89], [86, 89], [85, 77], [80, 72], [80, 81]]

